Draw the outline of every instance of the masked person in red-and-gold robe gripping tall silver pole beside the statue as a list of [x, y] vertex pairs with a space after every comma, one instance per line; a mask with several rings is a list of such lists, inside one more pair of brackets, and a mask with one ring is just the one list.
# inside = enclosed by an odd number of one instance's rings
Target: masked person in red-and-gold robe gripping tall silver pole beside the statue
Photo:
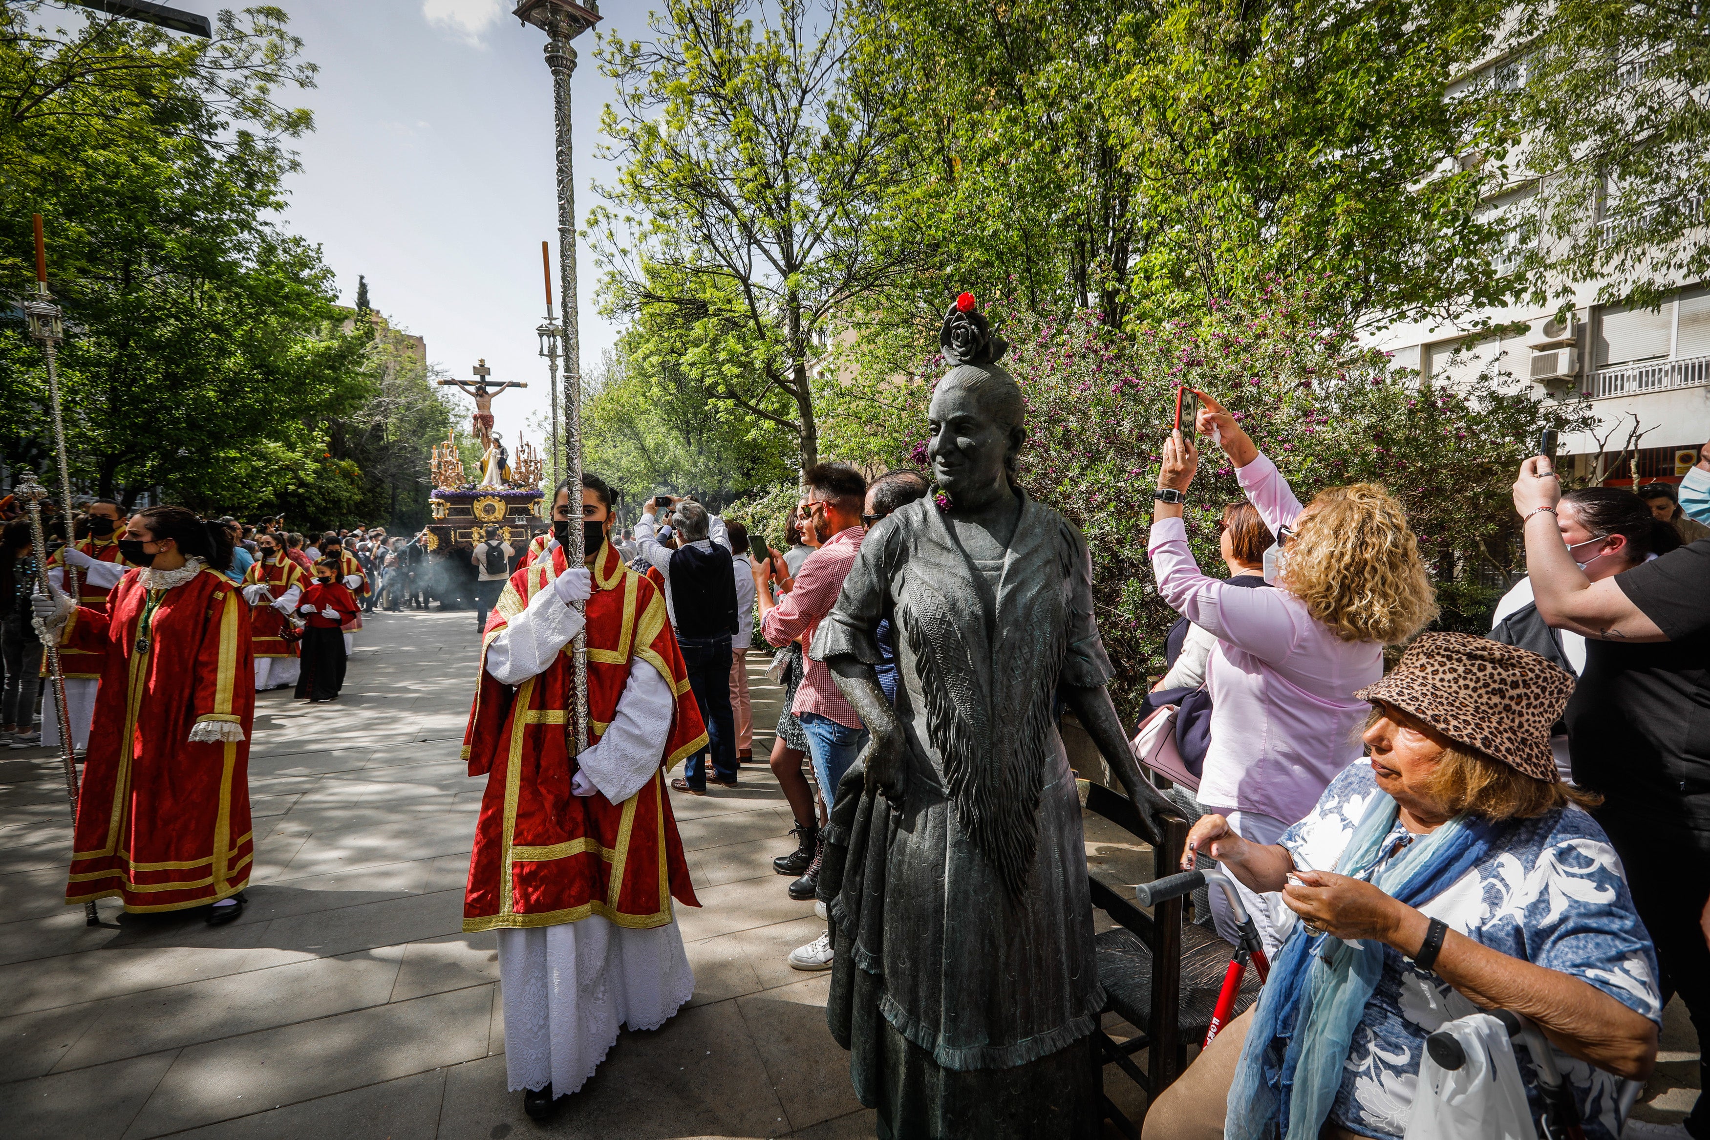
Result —
[[[463, 930], [498, 931], [508, 1084], [534, 1119], [593, 1075], [619, 1025], [658, 1029], [689, 1000], [672, 899], [699, 906], [662, 778], [706, 745], [687, 667], [663, 595], [610, 542], [610, 487], [588, 472], [587, 555], [569, 564], [569, 492], [554, 496], [552, 544], [487, 620], [463, 737], [469, 774], [487, 778]], [[583, 631], [590, 723], [573, 755]]]

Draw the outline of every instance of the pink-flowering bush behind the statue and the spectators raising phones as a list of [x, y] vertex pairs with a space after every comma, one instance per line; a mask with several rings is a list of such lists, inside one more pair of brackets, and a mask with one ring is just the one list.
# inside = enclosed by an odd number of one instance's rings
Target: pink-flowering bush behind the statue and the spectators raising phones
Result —
[[[1378, 482], [1400, 499], [1431, 566], [1443, 608], [1438, 627], [1484, 632], [1507, 574], [1515, 530], [1508, 485], [1541, 427], [1585, 426], [1580, 405], [1546, 403], [1527, 388], [1481, 376], [1454, 388], [1394, 369], [1361, 347], [1349, 326], [1313, 320], [1312, 287], [1260, 294], [1132, 333], [1096, 313], [1067, 320], [994, 313], [1011, 342], [1004, 366], [1028, 403], [1021, 480], [1069, 516], [1093, 554], [1094, 603], [1118, 677], [1118, 708], [1132, 711], [1147, 673], [1163, 670], [1176, 614], [1158, 596], [1146, 557], [1159, 448], [1175, 419], [1176, 386], [1214, 395], [1269, 455], [1305, 502], [1325, 487]], [[940, 357], [917, 376], [937, 378]], [[886, 400], [862, 407], [860, 441], [833, 453], [876, 467], [927, 461], [927, 383], [886, 381]], [[876, 408], [882, 410], [876, 414]], [[1183, 431], [1199, 402], [1188, 393]], [[886, 441], [882, 448], [876, 443]], [[1187, 532], [1207, 574], [1228, 571], [1216, 521], [1241, 501], [1223, 451], [1199, 439], [1200, 470], [1188, 491]], [[855, 453], [852, 453], [855, 451]], [[876, 453], [874, 453], [876, 451]]]

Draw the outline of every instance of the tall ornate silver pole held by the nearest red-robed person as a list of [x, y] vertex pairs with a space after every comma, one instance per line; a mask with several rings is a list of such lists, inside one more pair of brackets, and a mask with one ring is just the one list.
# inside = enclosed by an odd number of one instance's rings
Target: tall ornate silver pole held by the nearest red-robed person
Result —
[[[576, 70], [576, 50], [569, 41], [600, 22], [598, 0], [573, 3], [571, 0], [522, 0], [516, 19], [534, 24], [547, 34], [545, 65], [552, 70], [552, 118], [557, 144], [557, 273], [559, 311], [564, 314], [564, 431], [559, 470], [569, 480], [571, 566], [581, 566], [580, 514], [581, 485], [581, 338], [576, 328], [576, 181], [571, 152], [569, 77]], [[580, 608], [580, 607], [578, 607]], [[576, 634], [576, 716], [571, 728], [569, 750], [581, 752], [588, 740], [588, 643], [587, 634]]]

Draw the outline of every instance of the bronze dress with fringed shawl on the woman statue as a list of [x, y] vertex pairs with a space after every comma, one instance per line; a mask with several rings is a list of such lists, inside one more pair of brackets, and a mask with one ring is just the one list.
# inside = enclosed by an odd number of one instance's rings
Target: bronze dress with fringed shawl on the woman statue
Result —
[[1091, 1032], [1101, 1002], [1079, 798], [1053, 720], [1058, 684], [1112, 673], [1086, 544], [1024, 499], [988, 578], [949, 516], [911, 502], [867, 535], [812, 656], [877, 663], [884, 617], [899, 634], [905, 795], [899, 810], [869, 796], [836, 836], [848, 865], [834, 969], [846, 959], [881, 979], [879, 1012], [944, 1068], [1024, 1065]]

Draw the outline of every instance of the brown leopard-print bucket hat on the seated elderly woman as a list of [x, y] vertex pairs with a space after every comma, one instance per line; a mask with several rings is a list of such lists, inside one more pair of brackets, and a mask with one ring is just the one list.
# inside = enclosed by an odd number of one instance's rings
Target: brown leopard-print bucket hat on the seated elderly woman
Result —
[[1549, 728], [1571, 692], [1571, 673], [1518, 646], [1419, 634], [1383, 680], [1354, 696], [1394, 704], [1455, 743], [1556, 783]]

